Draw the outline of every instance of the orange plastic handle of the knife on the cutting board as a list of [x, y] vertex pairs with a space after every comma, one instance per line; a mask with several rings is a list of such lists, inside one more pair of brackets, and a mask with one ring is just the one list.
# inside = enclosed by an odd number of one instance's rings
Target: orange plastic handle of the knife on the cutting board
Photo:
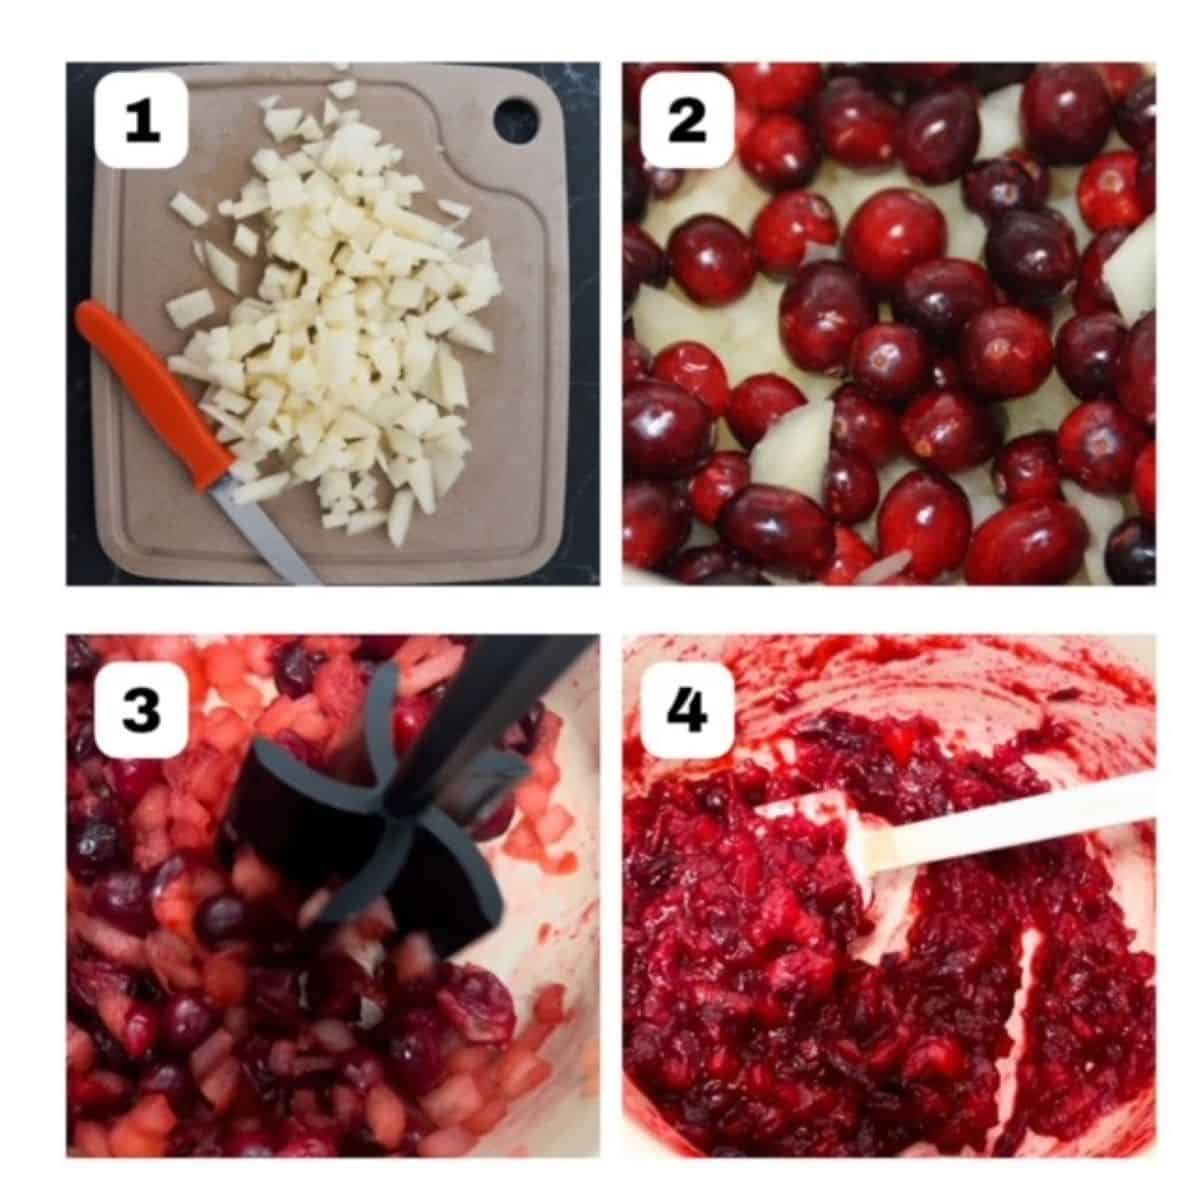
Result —
[[204, 415], [167, 364], [121, 320], [95, 300], [76, 308], [76, 328], [116, 372], [154, 431], [179, 455], [199, 491], [206, 492], [234, 457], [212, 436]]

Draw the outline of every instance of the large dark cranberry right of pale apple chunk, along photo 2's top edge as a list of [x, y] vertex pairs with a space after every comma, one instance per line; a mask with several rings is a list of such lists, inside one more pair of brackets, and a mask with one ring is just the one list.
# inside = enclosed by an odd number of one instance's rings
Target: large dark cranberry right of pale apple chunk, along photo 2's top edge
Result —
[[1112, 97], [1087, 62], [1048, 62], [1021, 91], [1025, 144], [1043, 162], [1081, 167], [1100, 152], [1112, 127]]

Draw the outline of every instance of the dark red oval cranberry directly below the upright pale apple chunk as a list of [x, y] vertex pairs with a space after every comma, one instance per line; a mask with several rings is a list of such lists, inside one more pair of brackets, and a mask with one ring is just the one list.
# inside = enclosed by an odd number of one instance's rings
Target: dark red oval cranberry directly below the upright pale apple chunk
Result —
[[721, 536], [763, 566], [811, 580], [833, 558], [833, 523], [800, 492], [751, 484], [725, 505]]

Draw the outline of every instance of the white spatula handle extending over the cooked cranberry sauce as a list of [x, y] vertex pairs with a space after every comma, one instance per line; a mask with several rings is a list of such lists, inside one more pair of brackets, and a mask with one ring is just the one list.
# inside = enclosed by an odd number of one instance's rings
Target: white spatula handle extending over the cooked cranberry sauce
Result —
[[1154, 773], [1144, 770], [1061, 792], [989, 804], [970, 812], [870, 829], [863, 839], [866, 870], [877, 875], [901, 866], [1150, 821], [1153, 816]]

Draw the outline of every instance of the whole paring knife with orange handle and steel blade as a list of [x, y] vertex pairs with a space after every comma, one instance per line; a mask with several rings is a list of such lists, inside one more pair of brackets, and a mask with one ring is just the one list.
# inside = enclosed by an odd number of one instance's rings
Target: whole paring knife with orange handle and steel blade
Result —
[[319, 586], [320, 577], [275, 522], [257, 504], [239, 504], [233, 498], [239, 486], [229, 474], [233, 455], [212, 436], [203, 414], [162, 359], [120, 317], [95, 300], [84, 300], [74, 319], [76, 329], [116, 372], [154, 431], [184, 461], [197, 488], [221, 505], [268, 566], [288, 583]]

